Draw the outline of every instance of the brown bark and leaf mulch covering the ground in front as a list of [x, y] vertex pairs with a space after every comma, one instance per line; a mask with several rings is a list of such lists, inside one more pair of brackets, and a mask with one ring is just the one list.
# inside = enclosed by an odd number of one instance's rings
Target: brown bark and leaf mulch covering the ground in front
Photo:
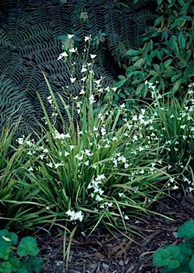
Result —
[[[124, 235], [99, 234], [90, 241], [81, 237], [74, 238], [70, 250], [68, 269], [63, 262], [63, 237], [54, 237], [44, 230], [36, 235], [41, 248], [43, 273], [149, 273], [162, 272], [152, 263], [153, 252], [158, 247], [177, 245], [181, 239], [177, 237], [180, 225], [193, 220], [194, 198], [190, 196], [174, 196], [163, 198], [153, 203], [150, 210], [172, 218], [168, 220], [160, 215], [140, 215], [142, 220], [134, 218], [130, 224], [144, 238], [128, 232]], [[56, 232], [57, 235], [57, 232]], [[68, 238], [66, 239], [68, 241]], [[134, 242], [136, 241], [136, 242]], [[66, 242], [68, 245], [68, 242]]]

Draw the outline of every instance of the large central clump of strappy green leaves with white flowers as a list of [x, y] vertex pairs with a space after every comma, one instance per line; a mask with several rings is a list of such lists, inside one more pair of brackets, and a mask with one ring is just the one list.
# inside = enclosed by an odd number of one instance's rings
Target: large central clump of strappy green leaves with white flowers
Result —
[[[90, 46], [90, 37], [85, 41]], [[76, 50], [67, 50], [60, 58], [70, 61], [74, 53]], [[34, 187], [33, 201], [41, 207], [25, 215], [28, 222], [24, 226], [60, 225], [65, 235], [70, 232], [70, 244], [76, 230], [86, 237], [97, 228], [110, 232], [131, 230], [127, 220], [149, 211], [148, 206], [161, 196], [169, 181], [159, 161], [160, 146], [156, 142], [149, 144], [147, 134], [151, 122], [143, 123], [130, 115], [124, 104], [112, 109], [107, 100], [102, 105], [106, 95], [110, 94], [110, 98], [117, 88], [104, 89], [103, 79], [94, 78], [94, 59], [95, 55], [88, 56], [86, 48], [81, 80], [77, 80], [76, 64], [72, 63], [70, 81], [77, 84], [77, 96], [70, 101], [77, 122], [70, 114], [69, 105], [60, 97], [69, 117], [65, 124], [45, 77], [50, 90], [48, 103], [53, 107], [52, 120], [40, 96], [39, 99], [49, 131], [43, 130], [43, 138], [38, 142], [19, 139], [27, 158], [31, 159], [28, 178]], [[61, 128], [57, 127], [58, 118]], [[70, 244], [64, 255], [68, 256]]]

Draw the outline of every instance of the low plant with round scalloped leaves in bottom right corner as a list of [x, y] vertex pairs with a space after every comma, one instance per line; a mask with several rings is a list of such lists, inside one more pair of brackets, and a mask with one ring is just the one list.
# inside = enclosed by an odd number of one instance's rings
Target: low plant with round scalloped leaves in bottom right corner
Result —
[[163, 267], [163, 273], [187, 272], [194, 268], [194, 221], [184, 223], [178, 230], [178, 237], [186, 242], [179, 245], [166, 245], [153, 255], [153, 264]]

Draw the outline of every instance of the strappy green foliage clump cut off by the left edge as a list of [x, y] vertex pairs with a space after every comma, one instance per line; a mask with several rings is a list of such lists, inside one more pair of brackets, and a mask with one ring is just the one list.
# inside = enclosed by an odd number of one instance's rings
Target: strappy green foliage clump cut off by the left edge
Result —
[[26, 200], [31, 200], [31, 184], [26, 181], [26, 170], [31, 161], [28, 160], [23, 146], [16, 149], [11, 145], [17, 126], [18, 124], [12, 129], [4, 127], [0, 135], [1, 228], [9, 228], [10, 225], [14, 228], [15, 224], [18, 225], [27, 210]]

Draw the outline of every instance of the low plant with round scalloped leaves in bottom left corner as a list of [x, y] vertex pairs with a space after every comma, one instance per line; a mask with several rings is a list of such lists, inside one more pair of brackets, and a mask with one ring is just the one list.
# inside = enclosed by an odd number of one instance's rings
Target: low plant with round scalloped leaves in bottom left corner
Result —
[[31, 236], [24, 237], [18, 245], [17, 253], [14, 253], [13, 245], [17, 242], [18, 236], [14, 232], [0, 230], [0, 272], [28, 273], [34, 270], [40, 273], [43, 262], [40, 257], [36, 257], [39, 252], [36, 240]]

